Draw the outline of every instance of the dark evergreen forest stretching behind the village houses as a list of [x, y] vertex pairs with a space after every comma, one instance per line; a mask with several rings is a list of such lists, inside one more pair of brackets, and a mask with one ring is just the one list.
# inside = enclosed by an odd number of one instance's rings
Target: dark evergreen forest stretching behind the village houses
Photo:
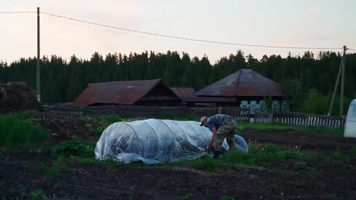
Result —
[[[305, 52], [302, 56], [283, 58], [264, 55], [256, 59], [238, 50], [228, 57], [210, 63], [208, 57], [190, 57], [186, 52], [141, 52], [107, 54], [99, 52], [90, 59], [80, 59], [74, 54], [70, 60], [57, 55], [41, 59], [41, 97], [46, 103], [74, 101], [88, 83], [164, 79], [171, 87], [191, 87], [199, 90], [241, 68], [248, 68], [281, 83], [294, 100], [295, 110], [310, 91], [319, 95], [333, 92], [342, 54], [336, 52]], [[12, 63], [0, 62], [0, 82], [25, 81], [36, 89], [36, 57], [21, 58]], [[346, 54], [345, 95], [356, 96], [356, 54]], [[339, 92], [338, 92], [339, 94]], [[337, 105], [337, 104], [335, 104]], [[337, 107], [337, 106], [336, 106]], [[294, 108], [293, 108], [294, 109]]]

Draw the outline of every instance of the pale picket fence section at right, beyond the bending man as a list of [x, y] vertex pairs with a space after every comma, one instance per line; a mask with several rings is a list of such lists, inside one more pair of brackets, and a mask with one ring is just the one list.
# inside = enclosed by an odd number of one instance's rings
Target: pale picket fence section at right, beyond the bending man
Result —
[[270, 112], [255, 114], [255, 123], [283, 123], [297, 126], [324, 126], [331, 128], [344, 128], [344, 117], [329, 117], [317, 114], [304, 114], [299, 112]]

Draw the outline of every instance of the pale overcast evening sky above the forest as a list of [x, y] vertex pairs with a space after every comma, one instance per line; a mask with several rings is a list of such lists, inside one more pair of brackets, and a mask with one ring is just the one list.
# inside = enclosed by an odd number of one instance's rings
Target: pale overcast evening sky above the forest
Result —
[[[69, 1], [0, 0], [0, 12], [36, 11], [108, 26], [228, 43], [356, 49], [354, 0], [231, 1]], [[0, 14], [0, 61], [37, 55], [37, 17]], [[97, 51], [130, 53], [153, 50], [208, 56], [211, 63], [238, 49], [261, 59], [264, 54], [304, 54], [305, 50], [228, 46], [156, 37], [93, 26], [41, 14], [41, 55], [72, 54], [89, 59]], [[313, 50], [318, 52], [319, 50]], [[335, 50], [339, 51], [339, 50]]]

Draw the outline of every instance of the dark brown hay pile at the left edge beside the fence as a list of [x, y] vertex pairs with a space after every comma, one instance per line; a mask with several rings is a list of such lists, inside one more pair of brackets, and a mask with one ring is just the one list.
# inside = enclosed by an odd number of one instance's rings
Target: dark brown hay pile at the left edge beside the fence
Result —
[[37, 93], [28, 83], [0, 83], [0, 113], [21, 110], [43, 111], [42, 104], [37, 101]]

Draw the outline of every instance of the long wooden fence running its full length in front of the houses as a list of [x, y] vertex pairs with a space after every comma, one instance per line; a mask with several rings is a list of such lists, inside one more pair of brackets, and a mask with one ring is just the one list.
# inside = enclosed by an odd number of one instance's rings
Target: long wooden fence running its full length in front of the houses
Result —
[[304, 114], [298, 112], [260, 112], [250, 115], [248, 108], [218, 107], [218, 108], [195, 108], [195, 107], [161, 107], [161, 106], [73, 106], [66, 104], [45, 106], [46, 110], [82, 112], [83, 114], [112, 114], [127, 115], [130, 117], [164, 117], [181, 116], [189, 114], [195, 117], [212, 116], [217, 113], [228, 114], [237, 121], [250, 121], [255, 123], [283, 123], [297, 126], [324, 126], [344, 128], [345, 118], [328, 117], [316, 114]]

